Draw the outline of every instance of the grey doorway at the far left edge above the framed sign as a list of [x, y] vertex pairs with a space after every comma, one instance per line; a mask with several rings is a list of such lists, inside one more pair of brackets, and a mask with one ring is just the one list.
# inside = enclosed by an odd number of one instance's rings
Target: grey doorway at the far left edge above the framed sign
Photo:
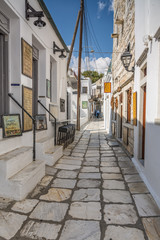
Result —
[[0, 116], [9, 113], [8, 91], [8, 40], [7, 35], [0, 32]]

